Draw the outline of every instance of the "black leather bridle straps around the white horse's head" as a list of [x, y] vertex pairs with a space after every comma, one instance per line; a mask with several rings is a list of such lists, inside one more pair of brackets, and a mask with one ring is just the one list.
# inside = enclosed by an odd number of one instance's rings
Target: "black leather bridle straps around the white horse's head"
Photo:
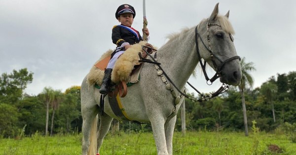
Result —
[[[199, 61], [200, 65], [201, 65], [202, 71], [203, 71], [203, 73], [205, 75], [205, 78], [207, 80], [207, 84], [208, 85], [212, 85], [212, 83], [215, 80], [217, 80], [218, 78], [221, 77], [222, 67], [225, 65], [225, 63], [231, 62], [231, 61], [233, 61], [235, 59], [238, 59], [239, 61], [241, 60], [239, 56], [234, 56], [234, 57], [231, 57], [229, 59], [226, 59], [225, 61], [222, 61], [216, 55], [214, 55], [214, 53], [213, 53], [213, 51], [211, 49], [211, 39], [210, 39], [210, 31], [209, 31], [210, 26], [219, 26], [219, 27], [221, 27], [221, 25], [207, 23], [207, 34], [208, 34], [207, 39], [208, 39], [208, 46], [209, 47], [207, 47], [205, 45], [205, 43], [202, 40], [200, 34], [198, 33], [198, 26], [196, 26], [196, 28], [195, 28], [195, 44], [196, 44], [196, 51], [197, 51], [198, 61]], [[229, 35], [230, 35], [231, 40], [233, 41], [231, 34], [229, 34]], [[201, 40], [202, 44], [205, 46], [205, 48], [210, 52], [211, 61], [212, 61], [213, 65], [215, 67], [215, 70], [216, 70], [216, 74], [211, 79], [208, 77], [208, 74], [206, 72], [206, 64], [207, 64], [207, 62], [204, 61], [204, 63], [202, 63], [202, 61], [201, 61], [201, 56], [200, 56], [200, 53], [199, 53], [198, 42], [197, 42], [198, 41], [198, 37], [200, 38], [200, 40]], [[215, 62], [215, 59], [217, 59], [219, 62], [221, 62], [221, 65], [220, 66], [217, 65], [217, 63]], [[208, 83], [209, 81], [210, 81], [210, 83]]]

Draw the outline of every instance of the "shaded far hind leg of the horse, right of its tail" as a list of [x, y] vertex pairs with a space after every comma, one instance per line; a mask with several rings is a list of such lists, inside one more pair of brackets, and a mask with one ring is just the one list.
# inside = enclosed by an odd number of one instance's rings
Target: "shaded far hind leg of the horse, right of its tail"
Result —
[[104, 137], [106, 136], [106, 134], [108, 133], [109, 129], [110, 129], [110, 125], [112, 122], [113, 118], [111, 118], [110, 116], [108, 116], [106, 113], [104, 113], [104, 115], [100, 115], [100, 127], [99, 127], [99, 133], [98, 133], [98, 152], [100, 153], [100, 147], [103, 143]]

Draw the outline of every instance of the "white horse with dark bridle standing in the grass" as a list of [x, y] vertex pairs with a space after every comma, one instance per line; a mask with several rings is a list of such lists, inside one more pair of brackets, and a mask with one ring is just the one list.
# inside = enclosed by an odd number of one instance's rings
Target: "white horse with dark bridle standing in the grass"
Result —
[[[182, 91], [199, 59], [217, 71], [222, 83], [240, 84], [241, 66], [231, 36], [234, 31], [228, 21], [229, 11], [225, 16], [218, 15], [218, 4], [208, 19], [194, 28], [172, 35], [157, 51], [157, 62]], [[172, 155], [176, 114], [184, 96], [175, 87], [171, 90], [176, 96], [166, 89], [154, 64], [145, 63], [140, 76], [140, 81], [129, 87], [127, 95], [121, 98], [123, 108], [130, 120], [151, 123], [158, 155]], [[100, 95], [99, 89], [88, 86], [85, 77], [81, 85], [83, 155], [99, 154], [111, 121], [113, 118], [120, 120], [112, 112], [108, 97], [105, 97], [104, 113], [101, 114]], [[97, 116], [100, 118], [99, 130]]]

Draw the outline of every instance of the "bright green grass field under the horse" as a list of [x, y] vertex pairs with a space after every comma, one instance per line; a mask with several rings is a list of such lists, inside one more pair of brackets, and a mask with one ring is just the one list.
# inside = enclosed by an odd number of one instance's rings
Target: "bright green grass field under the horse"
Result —
[[[0, 155], [81, 155], [81, 134], [44, 137], [39, 134], [21, 140], [0, 139]], [[275, 144], [282, 153], [268, 151]], [[296, 143], [285, 135], [237, 132], [175, 132], [174, 155], [296, 155]], [[108, 134], [101, 155], [156, 155], [153, 135]]]

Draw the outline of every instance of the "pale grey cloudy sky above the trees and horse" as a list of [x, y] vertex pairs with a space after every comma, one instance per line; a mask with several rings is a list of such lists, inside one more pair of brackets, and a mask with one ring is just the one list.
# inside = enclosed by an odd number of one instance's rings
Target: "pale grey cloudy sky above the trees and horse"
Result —
[[[295, 0], [146, 0], [149, 43], [161, 47], [169, 34], [208, 18], [218, 2], [220, 14], [230, 10], [237, 54], [254, 63], [253, 88], [277, 73], [296, 71]], [[0, 74], [33, 72], [25, 90], [30, 95], [45, 87], [64, 92], [80, 86], [101, 55], [115, 48], [111, 29], [124, 3], [134, 6], [132, 27], [141, 30], [142, 0], [0, 0]], [[189, 82], [205, 93], [221, 85], [207, 86], [201, 71]]]

